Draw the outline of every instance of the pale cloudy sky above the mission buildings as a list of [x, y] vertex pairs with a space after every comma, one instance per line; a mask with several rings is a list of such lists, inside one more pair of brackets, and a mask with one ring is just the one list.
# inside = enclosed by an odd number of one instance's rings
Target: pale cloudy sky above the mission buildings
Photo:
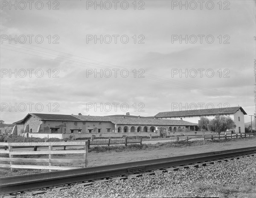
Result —
[[238, 105], [252, 115], [255, 0], [181, 3], [1, 0], [0, 119]]

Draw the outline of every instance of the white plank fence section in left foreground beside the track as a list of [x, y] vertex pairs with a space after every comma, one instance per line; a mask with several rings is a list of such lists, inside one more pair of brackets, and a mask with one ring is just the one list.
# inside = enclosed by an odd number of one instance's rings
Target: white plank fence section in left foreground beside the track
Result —
[[[9, 161], [10, 164], [0, 164], [0, 167], [2, 168], [20, 168], [20, 169], [48, 169], [48, 170], [69, 170], [69, 169], [76, 169], [81, 167], [64, 167], [64, 166], [53, 166], [52, 163], [82, 163], [84, 164], [84, 167], [87, 167], [87, 150], [88, 145], [87, 141], [58, 141], [58, 142], [40, 142], [40, 146], [48, 146], [49, 150], [13, 150], [13, 147], [17, 146], [17, 142], [1, 142], [1, 145], [8, 146], [9, 150], [0, 150], [0, 153], [7, 153], [9, 154], [9, 158], [0, 157], [0, 161]], [[83, 150], [52, 150], [53, 145], [58, 146], [84, 146]], [[19, 145], [20, 147], [21, 145]], [[25, 142], [22, 143], [23, 147], [28, 146], [38, 146], [38, 142]], [[57, 159], [52, 158], [52, 155], [55, 154], [83, 154], [82, 159], [71, 159], [71, 158], [64, 158], [64, 159]], [[48, 155], [48, 158], [14, 158], [15, 155]], [[42, 165], [18, 165], [18, 164], [12, 164], [12, 162], [32, 162], [32, 163], [49, 163], [48, 166], [42, 166]]]

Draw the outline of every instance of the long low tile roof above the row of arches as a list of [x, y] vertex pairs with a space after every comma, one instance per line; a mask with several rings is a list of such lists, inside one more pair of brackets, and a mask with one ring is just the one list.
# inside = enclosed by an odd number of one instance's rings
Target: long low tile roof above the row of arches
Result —
[[178, 125], [178, 126], [195, 126], [196, 123], [186, 122], [183, 120], [172, 119], [152, 119], [152, 118], [123, 118], [116, 116], [79, 116], [74, 115], [76, 118], [85, 121], [95, 122], [112, 122], [113, 124], [127, 124], [127, 125]]

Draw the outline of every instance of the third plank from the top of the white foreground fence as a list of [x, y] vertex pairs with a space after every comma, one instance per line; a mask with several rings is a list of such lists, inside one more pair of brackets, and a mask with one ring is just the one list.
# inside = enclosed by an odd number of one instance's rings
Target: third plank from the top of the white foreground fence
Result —
[[0, 161], [22, 161], [48, 163], [84, 163], [84, 159], [48, 159], [48, 158], [0, 158]]

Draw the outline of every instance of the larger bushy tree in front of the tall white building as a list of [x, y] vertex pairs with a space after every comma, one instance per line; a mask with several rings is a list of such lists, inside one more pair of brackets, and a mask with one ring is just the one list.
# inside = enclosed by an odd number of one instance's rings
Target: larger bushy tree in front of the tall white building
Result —
[[226, 131], [227, 129], [236, 128], [235, 122], [228, 116], [215, 116], [208, 124], [208, 130], [215, 132], [220, 135], [222, 131]]

